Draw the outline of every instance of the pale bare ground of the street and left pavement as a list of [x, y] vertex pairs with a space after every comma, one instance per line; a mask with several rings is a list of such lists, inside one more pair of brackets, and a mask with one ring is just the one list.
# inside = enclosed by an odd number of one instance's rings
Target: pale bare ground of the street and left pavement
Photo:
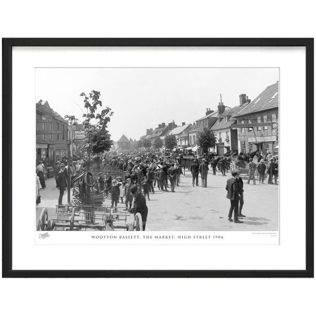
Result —
[[[192, 176], [186, 171], [181, 175], [181, 183], [175, 193], [158, 192], [150, 194], [147, 200], [148, 231], [278, 231], [278, 185], [244, 183], [244, 205], [242, 213], [246, 215], [243, 223], [228, 221], [230, 201], [226, 198], [226, 182], [231, 177], [223, 177], [220, 172], [214, 176], [208, 173], [207, 188], [192, 186]], [[266, 179], [267, 182], [267, 179]], [[170, 188], [168, 188], [170, 190]], [[46, 189], [40, 190], [41, 203], [37, 207], [37, 221], [42, 207], [47, 207], [49, 218], [55, 215], [59, 190], [55, 179], [46, 180]], [[67, 202], [65, 192], [63, 203]], [[106, 205], [110, 200], [105, 201]], [[118, 206], [123, 205], [118, 203]]]

